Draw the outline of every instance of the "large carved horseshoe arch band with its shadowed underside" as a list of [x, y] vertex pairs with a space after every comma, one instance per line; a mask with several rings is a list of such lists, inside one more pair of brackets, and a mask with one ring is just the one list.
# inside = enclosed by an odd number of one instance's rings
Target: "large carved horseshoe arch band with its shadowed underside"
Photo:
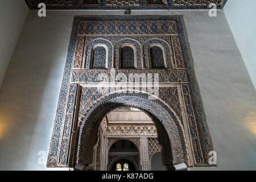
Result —
[[163, 148], [163, 163], [167, 169], [173, 169], [176, 164], [187, 163], [185, 137], [182, 126], [176, 114], [159, 99], [149, 100], [148, 94], [113, 93], [102, 98], [85, 115], [77, 146], [76, 162], [89, 166], [93, 163], [93, 147], [98, 139], [98, 127], [102, 118], [119, 106], [137, 107], [148, 113], [156, 124], [159, 144]]

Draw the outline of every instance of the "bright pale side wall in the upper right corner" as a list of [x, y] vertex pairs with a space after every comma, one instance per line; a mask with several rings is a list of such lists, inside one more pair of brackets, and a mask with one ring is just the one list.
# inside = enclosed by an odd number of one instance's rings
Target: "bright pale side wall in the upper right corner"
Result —
[[228, 1], [224, 12], [256, 90], [256, 1]]

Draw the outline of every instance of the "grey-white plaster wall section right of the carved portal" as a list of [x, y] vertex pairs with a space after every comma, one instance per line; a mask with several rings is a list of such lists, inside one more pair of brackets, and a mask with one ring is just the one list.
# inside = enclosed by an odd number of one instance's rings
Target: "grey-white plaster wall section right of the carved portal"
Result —
[[256, 169], [256, 93], [223, 11], [184, 15], [216, 168]]

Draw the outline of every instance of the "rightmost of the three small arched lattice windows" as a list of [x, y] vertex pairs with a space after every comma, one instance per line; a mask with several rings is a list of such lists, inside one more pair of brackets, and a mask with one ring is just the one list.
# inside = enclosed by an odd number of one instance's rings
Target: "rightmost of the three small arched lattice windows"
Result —
[[150, 48], [151, 68], [165, 68], [163, 50], [159, 46]]

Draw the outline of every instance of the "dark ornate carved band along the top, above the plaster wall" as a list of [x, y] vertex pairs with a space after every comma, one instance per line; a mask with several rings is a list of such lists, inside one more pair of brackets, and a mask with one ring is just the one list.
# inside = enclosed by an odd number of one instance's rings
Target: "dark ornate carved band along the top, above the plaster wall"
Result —
[[223, 9], [228, 0], [24, 0], [32, 10], [38, 9], [38, 4], [46, 3], [48, 10], [114, 10], [114, 9], [209, 9], [209, 3], [216, 3], [218, 9]]

